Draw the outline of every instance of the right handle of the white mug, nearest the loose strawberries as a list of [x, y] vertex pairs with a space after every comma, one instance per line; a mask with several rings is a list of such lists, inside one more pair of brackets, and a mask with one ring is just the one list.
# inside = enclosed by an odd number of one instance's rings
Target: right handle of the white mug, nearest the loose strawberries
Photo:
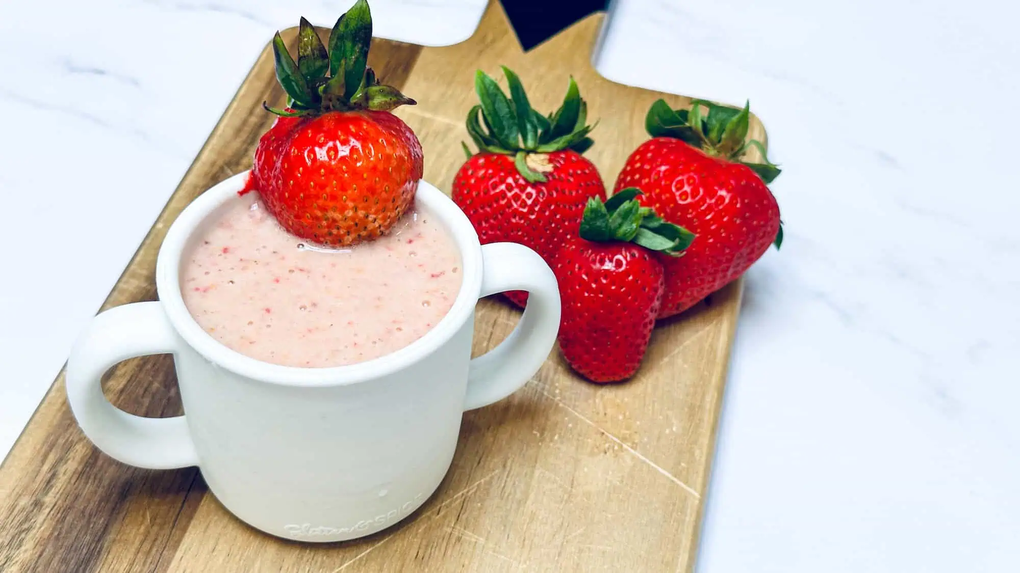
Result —
[[539, 371], [560, 329], [556, 275], [538, 253], [516, 243], [481, 246], [481, 297], [527, 291], [520, 322], [499, 346], [471, 360], [464, 410], [510, 396]]

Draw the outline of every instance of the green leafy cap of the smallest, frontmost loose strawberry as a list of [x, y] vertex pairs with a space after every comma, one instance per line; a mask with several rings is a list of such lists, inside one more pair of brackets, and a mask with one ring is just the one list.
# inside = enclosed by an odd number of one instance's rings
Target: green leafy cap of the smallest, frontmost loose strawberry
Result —
[[596, 243], [633, 243], [650, 251], [682, 255], [695, 233], [642, 206], [635, 199], [641, 194], [638, 188], [628, 187], [606, 201], [590, 198], [580, 220], [580, 238]]

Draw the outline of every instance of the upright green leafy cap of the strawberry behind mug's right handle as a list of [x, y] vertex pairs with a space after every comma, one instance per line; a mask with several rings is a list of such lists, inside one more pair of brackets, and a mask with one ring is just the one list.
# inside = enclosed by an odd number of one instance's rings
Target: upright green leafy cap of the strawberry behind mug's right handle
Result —
[[[478, 152], [514, 156], [514, 165], [521, 176], [530, 183], [545, 183], [541, 168], [548, 165], [542, 156], [546, 153], [572, 149], [583, 153], [595, 143], [588, 135], [595, 125], [585, 123], [588, 103], [573, 77], [567, 87], [563, 105], [548, 115], [536, 111], [527, 101], [527, 94], [520, 79], [507, 66], [503, 73], [510, 88], [508, 98], [499, 84], [480, 69], [474, 74], [474, 91], [478, 105], [467, 112], [467, 134], [478, 146]], [[480, 119], [479, 119], [480, 117]], [[473, 154], [466, 143], [464, 153]], [[540, 167], [537, 167], [540, 166]]]

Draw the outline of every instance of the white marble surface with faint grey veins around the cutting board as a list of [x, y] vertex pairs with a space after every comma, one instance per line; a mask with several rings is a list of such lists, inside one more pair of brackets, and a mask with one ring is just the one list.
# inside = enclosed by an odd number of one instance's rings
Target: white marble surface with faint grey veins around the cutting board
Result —
[[[350, 3], [0, 5], [0, 455], [268, 36]], [[483, 3], [373, 10], [382, 36], [445, 44]], [[749, 273], [701, 571], [1020, 567], [1020, 13], [912, 5], [614, 4], [607, 76], [750, 98], [785, 169], [786, 242]]]

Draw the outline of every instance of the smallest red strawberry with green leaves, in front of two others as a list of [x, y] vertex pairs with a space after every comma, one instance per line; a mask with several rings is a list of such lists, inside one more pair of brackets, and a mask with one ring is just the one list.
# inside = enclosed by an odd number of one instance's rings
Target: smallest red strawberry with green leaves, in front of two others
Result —
[[605, 203], [590, 199], [579, 233], [553, 261], [563, 304], [560, 350], [595, 382], [638, 371], [665, 288], [659, 258], [678, 256], [693, 239], [642, 207], [636, 195], [627, 189]]

